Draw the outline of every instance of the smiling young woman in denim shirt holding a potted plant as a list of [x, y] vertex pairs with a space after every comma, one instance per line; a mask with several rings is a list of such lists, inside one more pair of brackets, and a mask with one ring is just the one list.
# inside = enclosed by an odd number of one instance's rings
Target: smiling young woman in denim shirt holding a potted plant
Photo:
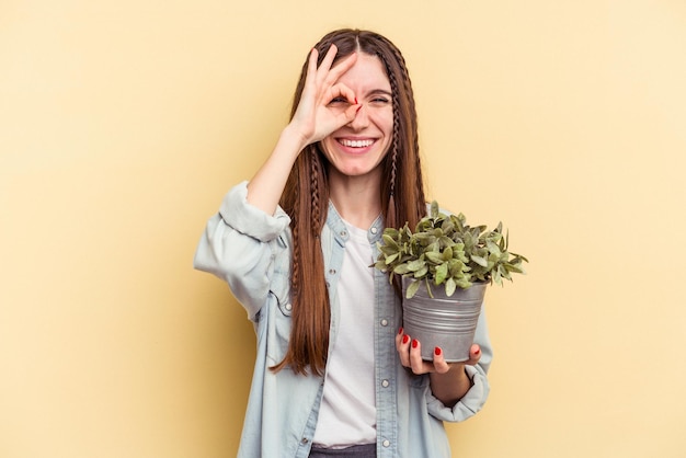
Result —
[[228, 282], [258, 335], [239, 457], [449, 457], [443, 422], [485, 402], [481, 317], [470, 359], [421, 358], [398, 293], [369, 267], [384, 227], [426, 214], [405, 62], [340, 30], [310, 51], [290, 123], [225, 197], [196, 268]]

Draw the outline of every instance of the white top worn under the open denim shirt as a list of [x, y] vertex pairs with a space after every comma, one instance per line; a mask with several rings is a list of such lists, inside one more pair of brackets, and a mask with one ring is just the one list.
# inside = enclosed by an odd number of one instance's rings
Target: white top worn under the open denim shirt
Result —
[[373, 251], [366, 230], [345, 225], [350, 239], [338, 287], [341, 322], [313, 438], [327, 448], [376, 443]]

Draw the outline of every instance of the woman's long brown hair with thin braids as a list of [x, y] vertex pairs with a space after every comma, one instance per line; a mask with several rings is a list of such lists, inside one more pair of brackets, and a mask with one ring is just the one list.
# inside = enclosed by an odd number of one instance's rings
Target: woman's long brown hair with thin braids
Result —
[[[388, 227], [409, 222], [414, 227], [426, 214], [416, 128], [416, 110], [410, 76], [400, 50], [386, 37], [369, 31], [339, 30], [327, 34], [316, 45], [319, 62], [335, 44], [338, 60], [350, 54], [377, 56], [390, 81], [393, 106], [393, 133], [382, 161], [384, 178], [379, 190], [384, 222]], [[296, 88], [290, 116], [300, 101], [307, 59]], [[284, 360], [272, 369], [289, 366], [296, 374], [309, 369], [322, 375], [329, 351], [331, 309], [324, 279], [324, 263], [319, 234], [329, 206], [328, 161], [319, 144], [307, 146], [298, 156], [281, 198], [290, 216], [293, 261], [290, 301], [293, 325]]]

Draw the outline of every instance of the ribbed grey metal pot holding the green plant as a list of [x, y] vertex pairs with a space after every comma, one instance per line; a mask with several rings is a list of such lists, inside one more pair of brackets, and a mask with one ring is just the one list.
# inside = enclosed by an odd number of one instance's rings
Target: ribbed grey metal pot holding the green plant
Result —
[[439, 346], [445, 360], [459, 363], [469, 359], [469, 348], [475, 340], [477, 322], [488, 283], [477, 283], [470, 288], [457, 288], [447, 297], [443, 285], [432, 285], [433, 298], [422, 282], [411, 298], [404, 291], [411, 280], [402, 279], [402, 312], [404, 333], [420, 341], [422, 359], [433, 360], [434, 348]]

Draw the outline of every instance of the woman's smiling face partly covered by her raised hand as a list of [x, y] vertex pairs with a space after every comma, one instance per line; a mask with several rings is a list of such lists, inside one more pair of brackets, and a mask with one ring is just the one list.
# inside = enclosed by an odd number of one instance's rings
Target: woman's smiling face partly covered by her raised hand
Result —
[[[378, 57], [359, 53], [355, 65], [339, 82], [355, 93], [359, 110], [352, 122], [322, 140], [324, 154], [344, 175], [380, 173], [378, 165], [388, 152], [393, 133], [392, 94], [384, 65]], [[345, 110], [350, 105], [343, 99], [334, 99], [329, 106]]]

